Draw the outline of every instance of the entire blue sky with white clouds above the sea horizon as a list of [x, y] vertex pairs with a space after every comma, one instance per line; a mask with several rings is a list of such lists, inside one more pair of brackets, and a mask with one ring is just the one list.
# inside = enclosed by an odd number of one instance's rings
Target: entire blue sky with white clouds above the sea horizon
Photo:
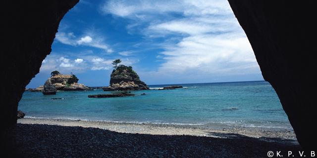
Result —
[[115, 59], [149, 85], [264, 80], [227, 0], [80, 0], [27, 88], [55, 70], [108, 86]]

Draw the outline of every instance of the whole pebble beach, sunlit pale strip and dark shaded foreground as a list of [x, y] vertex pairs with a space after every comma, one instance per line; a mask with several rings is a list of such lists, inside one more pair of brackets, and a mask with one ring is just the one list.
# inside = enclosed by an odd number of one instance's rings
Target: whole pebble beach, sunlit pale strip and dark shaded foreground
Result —
[[292, 129], [71, 119], [18, 119], [1, 139], [13, 157], [267, 158], [269, 151], [302, 151]]

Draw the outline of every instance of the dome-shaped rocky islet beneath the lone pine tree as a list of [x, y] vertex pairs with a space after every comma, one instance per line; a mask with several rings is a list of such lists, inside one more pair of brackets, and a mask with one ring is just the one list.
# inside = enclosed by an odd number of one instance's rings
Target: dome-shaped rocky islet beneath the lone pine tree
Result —
[[132, 67], [120, 65], [110, 75], [109, 87], [104, 87], [104, 91], [114, 90], [149, 90], [149, 86], [140, 80], [138, 74]]

